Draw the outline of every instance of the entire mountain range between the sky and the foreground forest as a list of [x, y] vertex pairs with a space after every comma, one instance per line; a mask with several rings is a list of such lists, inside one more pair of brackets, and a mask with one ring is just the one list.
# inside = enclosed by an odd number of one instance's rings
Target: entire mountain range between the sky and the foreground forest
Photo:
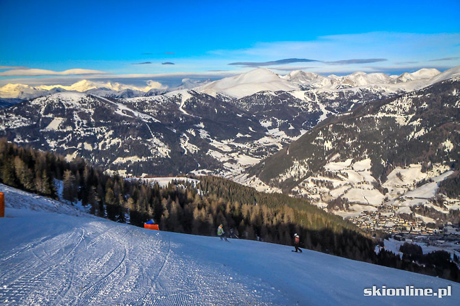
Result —
[[127, 176], [213, 174], [344, 215], [385, 203], [411, 213], [402, 194], [458, 170], [459, 77], [460, 67], [343, 77], [259, 68], [178, 88], [7, 85], [2, 97], [28, 100], [0, 110], [0, 135]]

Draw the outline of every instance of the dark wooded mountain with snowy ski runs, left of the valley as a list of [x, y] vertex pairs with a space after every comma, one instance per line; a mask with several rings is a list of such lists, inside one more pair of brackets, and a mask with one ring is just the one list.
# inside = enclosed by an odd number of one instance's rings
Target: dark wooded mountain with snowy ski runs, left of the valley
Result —
[[118, 101], [61, 92], [0, 110], [0, 133], [138, 176], [241, 171], [285, 141], [230, 103], [194, 91], [182, 95]]

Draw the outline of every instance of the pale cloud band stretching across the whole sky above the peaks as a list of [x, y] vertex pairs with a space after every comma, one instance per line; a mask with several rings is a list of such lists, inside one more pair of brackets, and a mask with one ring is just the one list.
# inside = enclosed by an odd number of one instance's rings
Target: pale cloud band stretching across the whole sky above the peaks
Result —
[[[390, 72], [392, 67], [400, 67], [400, 71], [409, 71], [417, 66], [435, 68], [451, 68], [460, 65], [460, 33], [454, 34], [409, 34], [392, 32], [372, 32], [364, 34], [344, 34], [320, 36], [309, 41], [259, 42], [246, 49], [209, 51], [201, 56], [190, 58], [175, 58], [175, 65], [132, 65], [131, 62], [92, 62], [94, 68], [110, 67], [112, 73], [92, 69], [71, 69], [67, 71], [50, 71], [43, 69], [27, 69], [25, 67], [0, 66], [8, 71], [0, 72], [0, 84], [14, 81], [14, 76], [28, 77], [33, 83], [33, 77], [48, 75], [59, 82], [70, 84], [72, 78], [81, 79], [76, 75], [85, 75], [85, 79], [163, 79], [218, 78], [228, 77], [250, 71], [253, 68], [229, 66], [231, 62], [272, 62], [290, 58], [308, 58], [322, 62], [283, 66], [270, 66], [270, 69], [280, 73], [302, 69], [321, 74], [344, 74], [355, 71]], [[370, 59], [380, 59], [381, 62], [369, 64]], [[433, 62], [442, 59], [442, 62]], [[383, 61], [385, 60], [385, 61]], [[431, 60], [431, 62], [430, 62]], [[329, 62], [329, 64], [327, 63]], [[331, 65], [330, 62], [335, 62]], [[88, 62], [86, 62], [88, 64]], [[442, 65], [442, 66], [439, 66]], [[80, 66], [76, 64], [76, 66]], [[165, 68], [165, 66], [167, 66]], [[388, 69], [387, 69], [388, 68]], [[108, 69], [108, 68], [107, 68]], [[25, 78], [23, 78], [24, 80]], [[23, 83], [24, 81], [21, 81]], [[39, 81], [37, 81], [38, 83]], [[136, 81], [137, 82], [137, 81]], [[56, 84], [56, 83], [49, 83]], [[145, 83], [144, 83], [145, 84]]]

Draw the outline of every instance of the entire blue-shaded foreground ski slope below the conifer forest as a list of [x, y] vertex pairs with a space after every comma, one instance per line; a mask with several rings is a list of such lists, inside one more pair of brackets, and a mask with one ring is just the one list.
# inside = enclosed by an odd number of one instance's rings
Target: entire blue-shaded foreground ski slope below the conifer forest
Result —
[[[248, 240], [150, 231], [0, 186], [1, 305], [458, 305], [460, 284]], [[37, 208], [38, 207], [38, 208]], [[64, 208], [63, 208], [64, 207]], [[73, 216], [71, 216], [73, 215]], [[363, 296], [372, 285], [452, 296]]]

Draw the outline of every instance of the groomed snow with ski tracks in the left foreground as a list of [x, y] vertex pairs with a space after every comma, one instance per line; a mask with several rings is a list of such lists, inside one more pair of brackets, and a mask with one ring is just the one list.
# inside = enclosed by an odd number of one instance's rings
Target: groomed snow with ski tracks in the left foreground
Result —
[[[63, 228], [53, 214], [43, 214], [44, 218], [35, 214], [40, 213], [8, 218], [12, 231], [27, 231], [29, 236], [34, 229], [24, 228], [23, 222], [40, 229], [49, 223], [45, 232], [51, 234], [35, 232], [40, 236], [36, 240], [1, 248], [0, 305], [248, 305], [259, 301], [244, 278], [229, 281], [231, 277], [220, 275], [212, 264], [195, 262], [164, 233], [71, 216]], [[34, 222], [34, 218], [41, 220]], [[59, 225], [54, 227], [55, 223]], [[0, 238], [2, 246], [16, 241]]]

